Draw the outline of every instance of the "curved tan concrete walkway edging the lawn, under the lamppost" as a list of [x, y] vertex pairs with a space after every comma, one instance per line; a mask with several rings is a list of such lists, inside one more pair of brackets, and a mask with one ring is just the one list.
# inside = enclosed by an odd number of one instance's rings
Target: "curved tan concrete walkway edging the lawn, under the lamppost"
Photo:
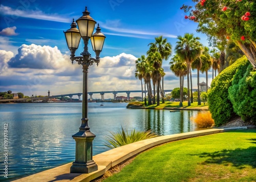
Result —
[[103, 175], [110, 168], [120, 164], [121, 162], [133, 157], [134, 155], [147, 150], [151, 147], [171, 142], [175, 140], [181, 140], [191, 137], [198, 137], [203, 135], [210, 135], [216, 133], [222, 133], [226, 131], [232, 131], [237, 129], [247, 129], [247, 126], [242, 127], [232, 127], [223, 129], [205, 129], [196, 132], [188, 132], [182, 134], [174, 134], [168, 136], [161, 136], [152, 139], [142, 140], [139, 142], [131, 143], [129, 145], [121, 146], [103, 153], [97, 154], [93, 157], [93, 160], [98, 165], [98, 170], [89, 174], [78, 174], [70, 173], [70, 167], [72, 163], [65, 164], [53, 169], [42, 171], [24, 178], [20, 178], [14, 181], [26, 181], [26, 182], [51, 182], [51, 181], [91, 181], [101, 175]]

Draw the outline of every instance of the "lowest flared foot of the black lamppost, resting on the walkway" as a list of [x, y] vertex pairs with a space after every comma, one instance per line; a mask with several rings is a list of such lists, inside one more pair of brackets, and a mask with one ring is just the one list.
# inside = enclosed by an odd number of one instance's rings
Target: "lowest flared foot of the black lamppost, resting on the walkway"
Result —
[[94, 161], [90, 161], [87, 164], [73, 162], [70, 167], [70, 173], [91, 173], [98, 170], [98, 166]]

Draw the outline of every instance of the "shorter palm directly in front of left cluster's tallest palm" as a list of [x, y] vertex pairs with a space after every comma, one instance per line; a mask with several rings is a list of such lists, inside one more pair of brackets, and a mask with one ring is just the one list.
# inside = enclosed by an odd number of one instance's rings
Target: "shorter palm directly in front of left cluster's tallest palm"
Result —
[[[148, 55], [147, 60], [154, 68], [152, 71], [152, 81], [153, 81], [153, 84], [157, 86], [157, 106], [159, 106], [160, 105], [160, 82], [161, 82], [161, 76], [162, 76], [160, 69], [162, 66], [162, 58], [160, 53], [152, 52]], [[155, 92], [155, 89], [154, 89], [154, 92]]]

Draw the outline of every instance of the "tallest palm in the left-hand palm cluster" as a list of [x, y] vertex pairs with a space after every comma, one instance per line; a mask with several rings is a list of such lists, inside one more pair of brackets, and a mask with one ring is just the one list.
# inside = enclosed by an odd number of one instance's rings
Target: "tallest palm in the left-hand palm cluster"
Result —
[[[150, 46], [150, 49], [147, 51], [147, 55], [149, 55], [150, 53], [158, 52], [158, 53], [160, 53], [162, 60], [167, 60], [170, 57], [170, 55], [172, 55], [172, 45], [169, 42], [167, 42], [166, 38], [163, 39], [163, 36], [156, 37], [155, 42], [150, 43], [148, 45], [151, 45], [151, 46]], [[161, 67], [162, 67], [162, 65], [161, 65]], [[163, 90], [163, 92], [161, 92], [161, 96], [162, 96], [162, 102], [164, 103], [163, 76], [164, 76], [164, 74], [162, 74], [162, 90]]]

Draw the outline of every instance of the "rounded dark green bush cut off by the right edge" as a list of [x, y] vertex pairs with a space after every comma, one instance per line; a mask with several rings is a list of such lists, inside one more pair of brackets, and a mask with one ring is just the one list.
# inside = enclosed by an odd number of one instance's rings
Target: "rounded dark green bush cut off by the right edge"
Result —
[[256, 71], [251, 65], [237, 71], [228, 93], [234, 112], [244, 121], [256, 123]]

